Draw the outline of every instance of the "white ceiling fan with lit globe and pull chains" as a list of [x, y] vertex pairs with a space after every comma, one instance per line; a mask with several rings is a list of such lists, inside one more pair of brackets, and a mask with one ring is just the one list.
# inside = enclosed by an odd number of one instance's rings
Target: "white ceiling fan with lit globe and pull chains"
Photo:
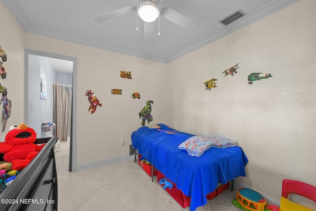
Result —
[[[152, 41], [153, 33], [154, 33], [154, 25], [151, 24], [155, 20], [159, 19], [159, 27], [160, 27], [160, 17], [163, 17], [180, 27], [187, 30], [196, 30], [199, 27], [199, 24], [190, 18], [176, 12], [169, 7], [158, 7], [158, 2], [162, 0], [139, 0], [140, 4], [138, 6], [127, 6], [124, 8], [120, 8], [114, 10], [112, 12], [105, 13], [103, 15], [97, 16], [93, 18], [94, 21], [98, 23], [102, 23], [134, 11], [137, 11], [138, 16], [144, 21], [144, 35], [145, 40]], [[138, 24], [138, 16], [137, 16], [137, 24]], [[138, 27], [136, 28], [138, 31]], [[160, 30], [158, 35], [160, 35]]]

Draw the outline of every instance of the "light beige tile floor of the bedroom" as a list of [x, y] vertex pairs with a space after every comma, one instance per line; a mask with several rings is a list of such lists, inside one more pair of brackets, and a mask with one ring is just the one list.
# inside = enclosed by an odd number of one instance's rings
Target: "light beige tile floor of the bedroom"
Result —
[[[181, 208], [134, 161], [68, 172], [69, 141], [55, 153], [58, 173], [58, 211], [190, 211]], [[156, 179], [156, 181], [155, 181]], [[231, 202], [236, 191], [221, 195], [196, 211], [241, 211]]]

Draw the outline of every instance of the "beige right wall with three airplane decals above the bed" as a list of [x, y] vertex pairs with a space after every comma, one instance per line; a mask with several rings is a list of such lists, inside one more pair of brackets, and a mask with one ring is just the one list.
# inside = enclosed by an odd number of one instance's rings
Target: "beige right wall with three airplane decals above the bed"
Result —
[[[300, 0], [168, 64], [171, 125], [237, 140], [249, 159], [238, 181], [276, 200], [284, 178], [316, 186], [315, 8]], [[253, 72], [273, 77], [250, 85]]]

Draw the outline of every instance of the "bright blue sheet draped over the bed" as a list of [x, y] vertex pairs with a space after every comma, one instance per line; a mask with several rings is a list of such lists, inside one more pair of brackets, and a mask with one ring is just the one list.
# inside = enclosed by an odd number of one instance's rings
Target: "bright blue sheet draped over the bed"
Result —
[[178, 146], [194, 136], [158, 124], [159, 129], [140, 127], [131, 134], [133, 147], [171, 180], [183, 194], [191, 197], [190, 211], [207, 203], [206, 195], [218, 183], [226, 184], [238, 176], [245, 176], [248, 159], [238, 146], [210, 147], [200, 157], [191, 156]]

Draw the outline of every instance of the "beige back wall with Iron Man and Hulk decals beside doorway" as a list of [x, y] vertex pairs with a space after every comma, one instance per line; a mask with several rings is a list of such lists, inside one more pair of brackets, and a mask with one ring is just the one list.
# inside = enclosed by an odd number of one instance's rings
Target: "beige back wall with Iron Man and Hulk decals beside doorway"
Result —
[[[138, 113], [153, 100], [156, 123], [165, 122], [164, 111], [168, 80], [166, 64], [113, 53], [70, 42], [26, 34], [25, 47], [78, 59], [77, 81], [77, 164], [90, 163], [129, 154], [132, 131], [141, 126]], [[120, 78], [119, 71], [130, 71], [133, 79]], [[168, 83], [167, 83], [168, 84]], [[111, 89], [122, 89], [122, 95]], [[91, 89], [102, 103], [92, 115], [85, 92]], [[141, 99], [133, 99], [139, 92]], [[125, 146], [121, 147], [121, 141]]]

